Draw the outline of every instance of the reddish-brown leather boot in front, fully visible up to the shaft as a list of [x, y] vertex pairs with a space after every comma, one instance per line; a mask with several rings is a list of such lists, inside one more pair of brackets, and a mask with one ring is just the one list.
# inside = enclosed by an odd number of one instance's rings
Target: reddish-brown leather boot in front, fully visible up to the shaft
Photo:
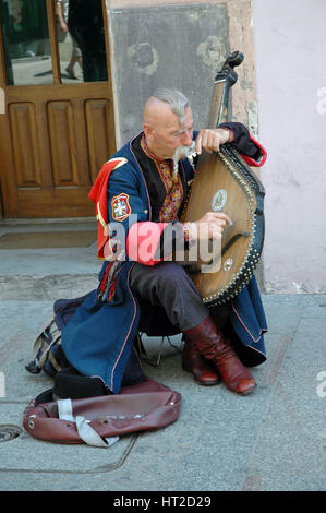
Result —
[[242, 365], [230, 342], [217, 331], [209, 315], [197, 326], [185, 331], [184, 336], [217, 367], [227, 389], [237, 394], [247, 394], [256, 386], [253, 375]]

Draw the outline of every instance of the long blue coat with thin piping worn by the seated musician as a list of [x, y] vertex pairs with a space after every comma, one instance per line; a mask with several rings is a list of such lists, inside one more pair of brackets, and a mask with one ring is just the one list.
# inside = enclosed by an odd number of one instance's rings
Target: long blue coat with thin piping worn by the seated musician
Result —
[[[126, 214], [137, 214], [137, 222], [154, 219], [154, 204], [143, 169], [132, 147], [132, 141], [124, 145], [112, 158], [123, 158], [125, 163], [113, 170], [108, 180], [108, 220], [117, 220], [111, 205], [121, 193], [128, 198]], [[123, 160], [124, 162], [124, 160]], [[188, 159], [182, 160], [181, 171], [184, 187], [193, 177], [193, 168]], [[128, 232], [129, 215], [121, 223]], [[98, 291], [90, 294], [62, 330], [62, 349], [70, 363], [84, 375], [100, 377], [106, 385], [119, 393], [131, 347], [137, 334], [140, 305], [129, 285], [133, 261], [126, 260], [116, 273], [114, 294], [106, 290], [105, 299]], [[104, 282], [108, 262], [104, 263], [99, 282]], [[112, 282], [110, 283], [112, 284]], [[249, 285], [232, 300], [230, 320], [241, 343], [253, 350], [262, 362], [266, 359], [263, 333], [267, 331], [261, 295], [253, 277]], [[257, 365], [257, 363], [255, 363]]]

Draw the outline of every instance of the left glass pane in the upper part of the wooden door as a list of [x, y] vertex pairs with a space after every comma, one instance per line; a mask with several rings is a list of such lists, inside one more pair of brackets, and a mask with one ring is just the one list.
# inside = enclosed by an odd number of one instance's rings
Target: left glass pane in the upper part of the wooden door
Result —
[[7, 83], [52, 83], [46, 2], [0, 0]]

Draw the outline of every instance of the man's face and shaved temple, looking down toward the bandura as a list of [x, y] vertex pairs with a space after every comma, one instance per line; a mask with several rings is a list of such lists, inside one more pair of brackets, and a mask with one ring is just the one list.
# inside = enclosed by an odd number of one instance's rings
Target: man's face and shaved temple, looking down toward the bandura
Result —
[[176, 150], [182, 146], [190, 146], [193, 138], [193, 116], [190, 107], [185, 109], [183, 126], [181, 127], [179, 118], [167, 106], [152, 126], [149, 133], [146, 132], [147, 143], [150, 150], [160, 158], [173, 158]]

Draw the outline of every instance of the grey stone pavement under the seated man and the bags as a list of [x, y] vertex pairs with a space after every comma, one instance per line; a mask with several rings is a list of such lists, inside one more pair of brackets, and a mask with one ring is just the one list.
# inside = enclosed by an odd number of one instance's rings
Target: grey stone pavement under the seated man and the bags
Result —
[[[0, 236], [45, 228], [71, 225], [0, 225]], [[0, 251], [0, 425], [21, 427], [27, 402], [51, 386], [46, 374], [24, 369], [34, 335], [55, 299], [95, 288], [98, 270], [95, 244]], [[326, 295], [263, 300], [268, 360], [253, 369], [258, 387], [252, 395], [194, 384], [181, 370], [180, 337], [173, 337], [173, 346], [164, 344], [160, 366], [145, 368], [182, 394], [176, 423], [121, 438], [110, 449], [41, 442], [22, 429], [0, 443], [0, 490], [325, 491]], [[154, 359], [160, 339], [147, 338], [145, 346]]]

